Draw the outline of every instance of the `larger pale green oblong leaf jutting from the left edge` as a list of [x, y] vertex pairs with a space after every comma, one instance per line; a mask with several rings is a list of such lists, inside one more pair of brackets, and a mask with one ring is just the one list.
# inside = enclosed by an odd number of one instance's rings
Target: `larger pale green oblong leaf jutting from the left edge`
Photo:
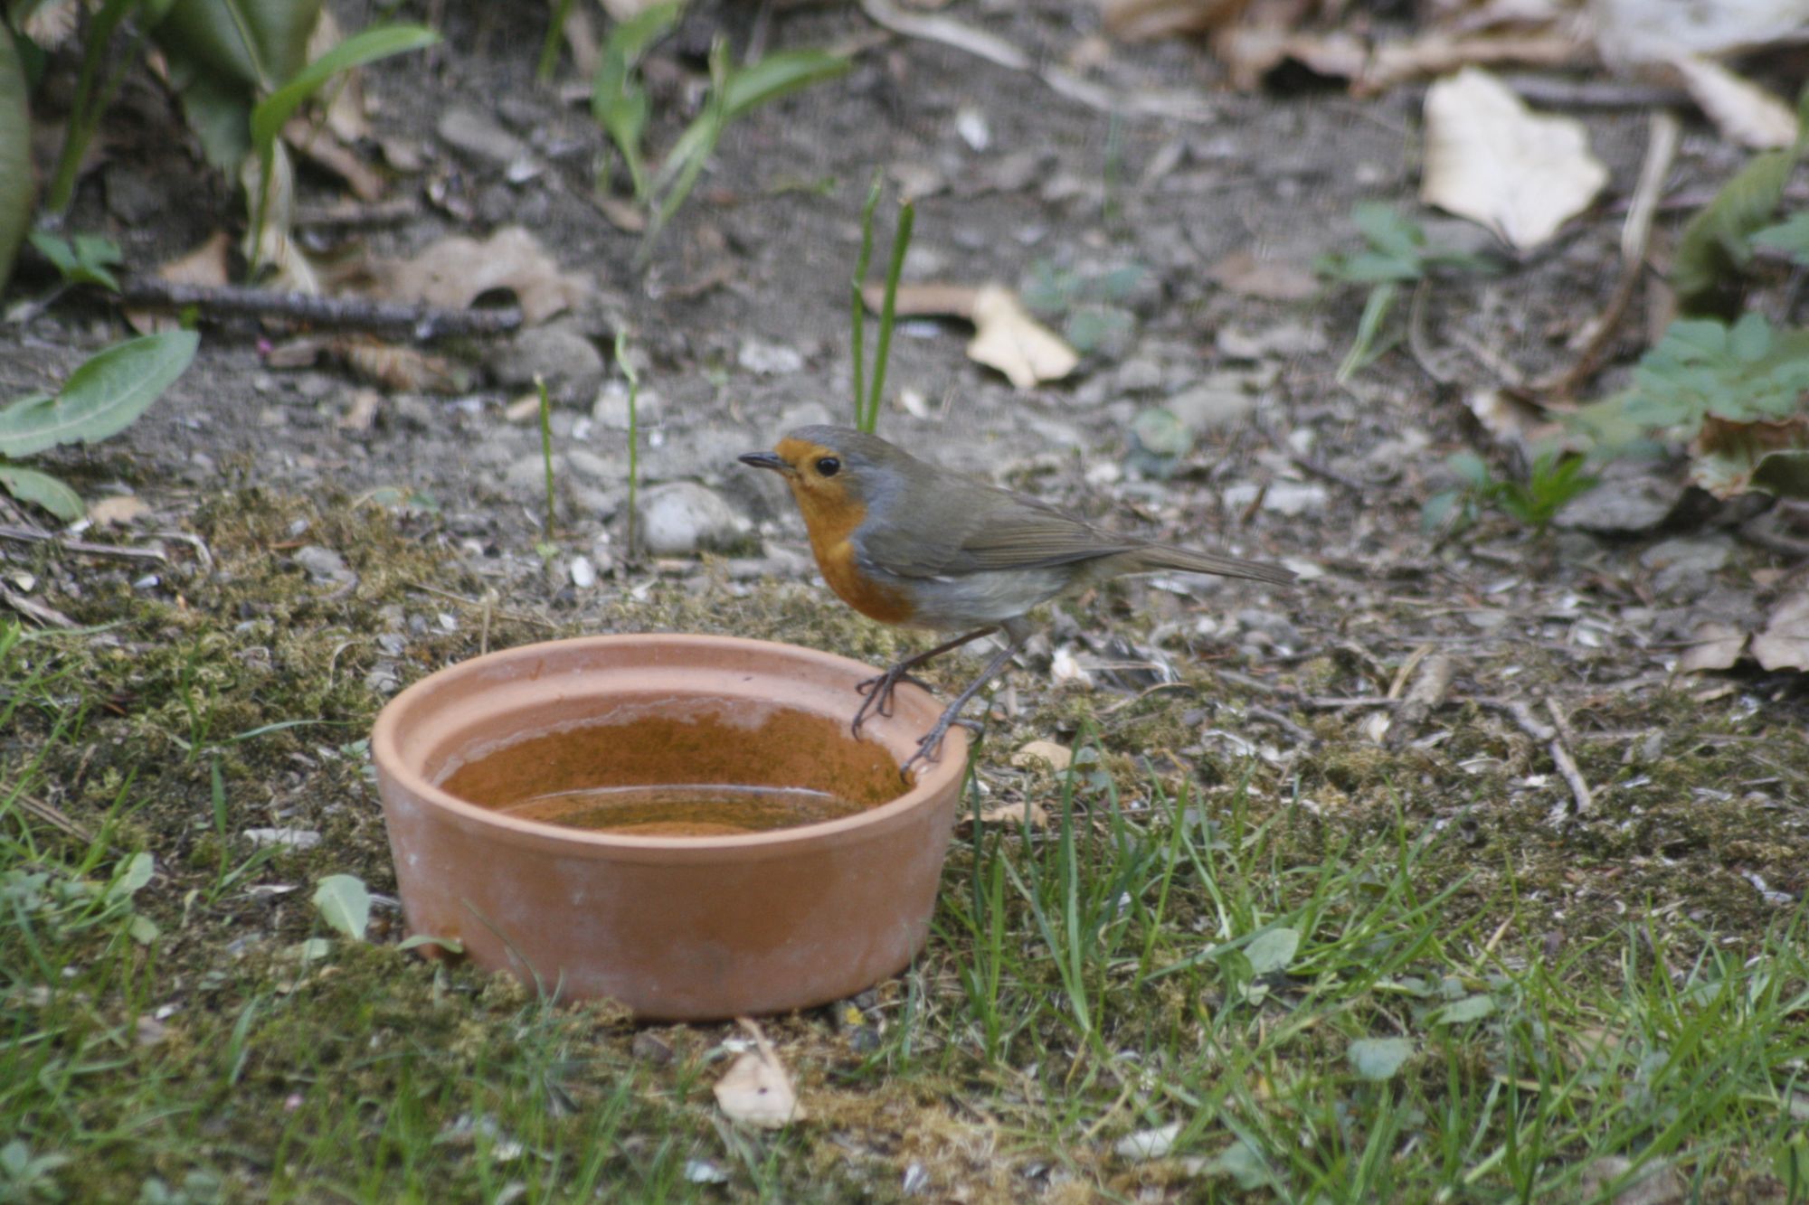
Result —
[[54, 398], [22, 398], [0, 409], [0, 456], [118, 434], [188, 369], [199, 344], [194, 331], [166, 331], [90, 356]]

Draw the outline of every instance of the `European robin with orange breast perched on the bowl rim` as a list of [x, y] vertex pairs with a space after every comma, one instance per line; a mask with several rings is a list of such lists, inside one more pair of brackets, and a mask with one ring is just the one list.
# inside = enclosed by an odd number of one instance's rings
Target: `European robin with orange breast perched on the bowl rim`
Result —
[[961, 709], [1031, 637], [1028, 613], [1056, 595], [1158, 570], [1293, 581], [1279, 565], [1102, 530], [1035, 498], [937, 469], [852, 427], [798, 427], [771, 452], [747, 452], [742, 463], [785, 478], [810, 532], [816, 566], [843, 602], [886, 624], [964, 631], [863, 682], [856, 736], [874, 709], [890, 715], [892, 691], [912, 669], [1004, 631], [1006, 646], [948, 704], [901, 773], [935, 754]]

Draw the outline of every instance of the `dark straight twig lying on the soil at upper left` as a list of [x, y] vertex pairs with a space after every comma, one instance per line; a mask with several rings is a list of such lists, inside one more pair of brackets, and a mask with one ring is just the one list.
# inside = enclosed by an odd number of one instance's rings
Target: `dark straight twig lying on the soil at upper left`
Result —
[[206, 317], [286, 318], [318, 327], [405, 333], [418, 342], [449, 335], [505, 335], [521, 326], [521, 309], [445, 309], [376, 302], [364, 297], [313, 297], [277, 293], [237, 284], [183, 284], [157, 277], [130, 277], [119, 288], [128, 306], [186, 309], [195, 306]]

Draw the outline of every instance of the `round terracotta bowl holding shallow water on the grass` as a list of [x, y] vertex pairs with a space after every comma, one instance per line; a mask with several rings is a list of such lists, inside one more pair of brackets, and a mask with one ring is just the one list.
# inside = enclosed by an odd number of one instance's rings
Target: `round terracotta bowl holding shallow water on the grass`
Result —
[[[823, 1004], [923, 948], [966, 733], [859, 662], [686, 635], [530, 644], [434, 673], [371, 736], [409, 930], [561, 997], [702, 1020]], [[803, 821], [803, 823], [800, 823]]]

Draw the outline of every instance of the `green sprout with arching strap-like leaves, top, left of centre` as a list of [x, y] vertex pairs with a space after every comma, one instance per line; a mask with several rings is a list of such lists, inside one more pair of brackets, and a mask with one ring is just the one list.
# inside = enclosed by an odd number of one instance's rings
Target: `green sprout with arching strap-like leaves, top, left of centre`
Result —
[[[827, 51], [774, 51], [756, 63], [736, 67], [729, 62], [727, 42], [718, 38], [709, 51], [709, 92], [704, 109], [666, 152], [658, 170], [648, 168], [642, 145], [651, 103], [640, 81], [640, 60], [678, 24], [682, 4], [658, 4], [617, 24], [604, 40], [597, 74], [590, 87], [590, 112], [615, 143], [628, 166], [635, 203], [646, 210], [648, 232], [637, 255], [646, 264], [653, 244], [696, 186], [698, 176], [716, 154], [716, 143], [736, 118], [800, 89], [843, 74], [848, 60]], [[597, 186], [610, 186], [608, 172]]]

